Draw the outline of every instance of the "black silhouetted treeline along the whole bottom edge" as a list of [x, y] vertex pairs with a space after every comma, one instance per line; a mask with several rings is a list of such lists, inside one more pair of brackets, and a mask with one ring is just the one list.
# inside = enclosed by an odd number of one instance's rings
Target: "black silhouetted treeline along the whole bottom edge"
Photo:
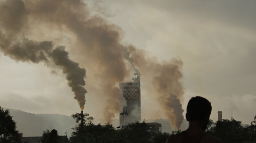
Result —
[[[59, 136], [56, 129], [43, 131], [41, 142], [54, 143], [79, 143], [79, 142], [165, 142], [169, 133], [155, 133], [148, 125], [135, 122], [125, 125], [122, 128], [114, 128], [112, 124], [94, 124], [93, 117], [89, 114], [75, 113], [71, 115], [76, 125], [72, 128], [72, 135], [67, 138]], [[181, 132], [175, 131], [174, 134]], [[241, 121], [234, 118], [223, 119], [213, 122], [209, 120], [206, 132], [219, 137], [224, 143], [229, 142], [256, 142], [256, 121], [250, 125], [242, 126]], [[12, 119], [9, 110], [0, 106], [0, 143], [2, 142], [22, 142], [16, 130], [16, 123]]]

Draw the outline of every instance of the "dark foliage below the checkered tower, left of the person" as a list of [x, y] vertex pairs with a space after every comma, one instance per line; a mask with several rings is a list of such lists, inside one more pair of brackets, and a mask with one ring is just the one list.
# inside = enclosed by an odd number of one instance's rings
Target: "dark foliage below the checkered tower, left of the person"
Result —
[[76, 126], [72, 129], [70, 142], [165, 142], [168, 133], [153, 133], [149, 131], [148, 125], [135, 122], [115, 129], [112, 124], [93, 124], [93, 117], [89, 114], [72, 114]]

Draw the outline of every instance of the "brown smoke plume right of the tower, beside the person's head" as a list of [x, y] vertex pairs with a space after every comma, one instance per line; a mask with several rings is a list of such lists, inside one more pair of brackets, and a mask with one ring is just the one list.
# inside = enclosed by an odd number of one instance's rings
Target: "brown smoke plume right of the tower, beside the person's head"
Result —
[[180, 99], [183, 99], [185, 93], [180, 81], [183, 77], [181, 58], [171, 58], [169, 61], [158, 63], [155, 58], [147, 57], [145, 51], [141, 49], [129, 46], [129, 51], [134, 64], [139, 66], [140, 71], [149, 78], [156, 99], [170, 124], [180, 129], [184, 119]]

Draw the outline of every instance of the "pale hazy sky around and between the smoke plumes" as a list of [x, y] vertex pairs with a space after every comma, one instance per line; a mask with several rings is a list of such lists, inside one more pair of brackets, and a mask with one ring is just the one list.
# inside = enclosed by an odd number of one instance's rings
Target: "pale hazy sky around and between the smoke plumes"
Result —
[[[183, 114], [190, 97], [200, 95], [212, 103], [210, 118], [214, 121], [218, 110], [222, 110], [226, 119], [233, 117], [242, 123], [253, 120], [256, 115], [255, 0], [93, 1], [86, 1], [90, 13], [117, 25], [122, 33], [121, 43], [146, 50], [147, 56], [160, 63], [172, 57], [182, 59], [181, 81], [186, 89], [181, 98]], [[76, 35], [61, 28], [47, 22], [34, 23], [26, 37], [50, 39], [55, 45], [66, 46], [70, 58], [87, 70], [84, 112], [103, 117], [108, 98], [99, 91], [98, 74], [92, 73], [96, 70], [90, 64], [93, 61], [78, 57], [83, 53], [76, 50]], [[124, 81], [131, 81], [133, 71], [130, 70]], [[54, 71], [44, 63], [15, 61], [0, 51], [0, 105], [33, 113], [79, 112], [65, 75], [60, 70]], [[144, 86], [147, 77], [143, 76], [146, 73], [141, 74], [141, 118], [166, 118], [159, 103], [147, 95], [154, 89]]]

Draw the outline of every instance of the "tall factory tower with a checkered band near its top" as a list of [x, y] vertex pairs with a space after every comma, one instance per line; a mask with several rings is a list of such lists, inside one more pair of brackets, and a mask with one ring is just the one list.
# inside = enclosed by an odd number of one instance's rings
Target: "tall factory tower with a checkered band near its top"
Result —
[[119, 83], [120, 93], [127, 104], [120, 113], [120, 126], [141, 120], [140, 74], [134, 73], [132, 80], [133, 82]]

